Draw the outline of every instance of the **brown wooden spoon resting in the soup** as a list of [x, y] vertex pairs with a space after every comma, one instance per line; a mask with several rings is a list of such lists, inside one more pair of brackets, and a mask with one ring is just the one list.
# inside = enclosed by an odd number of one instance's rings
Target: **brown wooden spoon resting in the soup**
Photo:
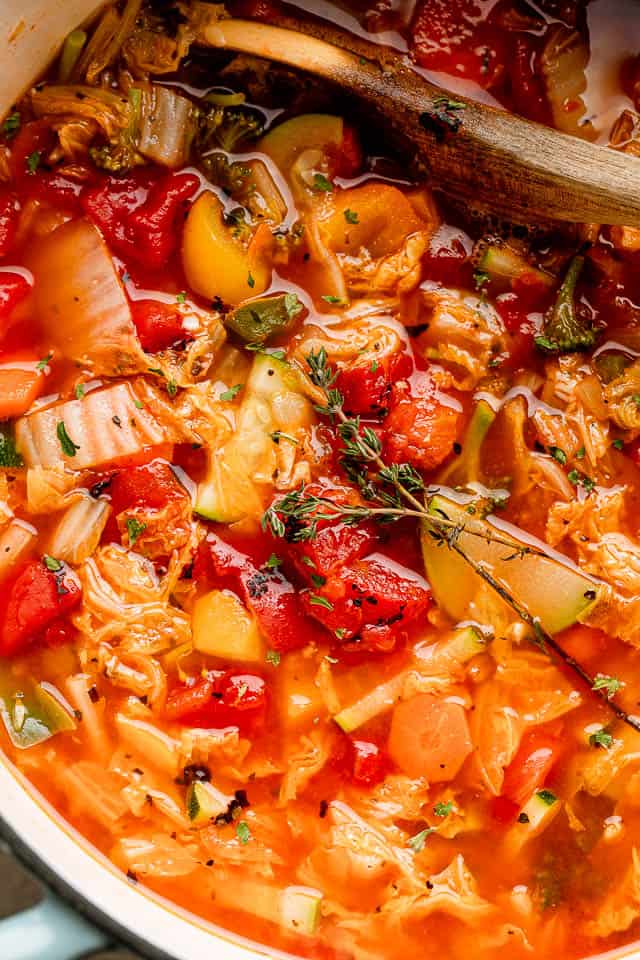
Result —
[[210, 16], [197, 42], [288, 64], [355, 94], [435, 186], [470, 205], [523, 223], [640, 227], [640, 158], [452, 94], [393, 51], [331, 24]]

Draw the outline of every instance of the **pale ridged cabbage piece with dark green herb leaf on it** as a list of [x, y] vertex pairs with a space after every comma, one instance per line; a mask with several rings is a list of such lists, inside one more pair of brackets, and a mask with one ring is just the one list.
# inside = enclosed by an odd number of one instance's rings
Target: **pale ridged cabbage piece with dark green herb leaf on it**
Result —
[[130, 457], [170, 439], [167, 429], [139, 404], [128, 383], [94, 390], [82, 400], [21, 417], [16, 423], [17, 447], [28, 467], [62, 463], [85, 470]]

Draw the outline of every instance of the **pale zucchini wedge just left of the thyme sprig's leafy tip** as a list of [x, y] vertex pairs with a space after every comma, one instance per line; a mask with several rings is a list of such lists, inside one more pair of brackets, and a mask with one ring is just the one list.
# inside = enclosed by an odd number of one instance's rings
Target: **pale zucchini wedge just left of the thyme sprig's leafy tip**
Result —
[[301, 386], [294, 367], [269, 354], [256, 356], [235, 433], [224, 447], [210, 451], [207, 477], [198, 486], [197, 513], [219, 523], [261, 515], [263, 490], [280, 446], [274, 433], [290, 434], [311, 422], [311, 405]]

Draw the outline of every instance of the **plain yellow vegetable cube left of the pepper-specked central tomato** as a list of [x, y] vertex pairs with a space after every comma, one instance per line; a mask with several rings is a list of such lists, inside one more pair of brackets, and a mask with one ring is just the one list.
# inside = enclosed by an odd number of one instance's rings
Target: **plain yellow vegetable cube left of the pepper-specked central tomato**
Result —
[[200, 653], [232, 662], [264, 662], [264, 641], [238, 597], [212, 590], [193, 609], [193, 646]]

